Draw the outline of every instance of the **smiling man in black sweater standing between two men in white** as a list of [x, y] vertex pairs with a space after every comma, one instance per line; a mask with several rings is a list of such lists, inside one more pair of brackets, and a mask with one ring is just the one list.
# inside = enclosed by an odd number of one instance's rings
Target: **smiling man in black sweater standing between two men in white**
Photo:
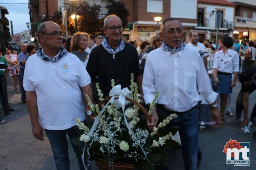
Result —
[[93, 82], [99, 82], [104, 97], [111, 90], [111, 79], [122, 88], [130, 88], [131, 73], [142, 92], [142, 76], [136, 48], [122, 40], [122, 21], [116, 15], [109, 15], [104, 20], [103, 31], [106, 39], [90, 53], [87, 71]]

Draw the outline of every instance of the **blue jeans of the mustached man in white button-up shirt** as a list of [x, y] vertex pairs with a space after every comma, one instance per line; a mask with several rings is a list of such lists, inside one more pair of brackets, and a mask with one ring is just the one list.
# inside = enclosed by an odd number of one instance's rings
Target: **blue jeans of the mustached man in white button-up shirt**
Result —
[[[169, 116], [172, 112], [163, 105], [157, 105], [159, 117]], [[179, 126], [181, 150], [186, 170], [196, 170], [198, 163], [198, 112], [197, 108], [180, 112], [168, 126]]]

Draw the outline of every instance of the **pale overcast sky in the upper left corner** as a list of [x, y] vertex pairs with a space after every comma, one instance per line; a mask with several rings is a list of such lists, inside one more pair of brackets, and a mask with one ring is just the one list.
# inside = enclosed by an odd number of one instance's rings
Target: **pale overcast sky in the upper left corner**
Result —
[[[9, 20], [9, 28], [11, 33], [12, 20], [14, 34], [27, 30], [26, 23], [29, 23], [29, 0], [0, 0], [0, 6], [5, 6], [9, 11], [8, 15], [5, 15]], [[26, 4], [3, 4], [3, 3], [26, 3]]]

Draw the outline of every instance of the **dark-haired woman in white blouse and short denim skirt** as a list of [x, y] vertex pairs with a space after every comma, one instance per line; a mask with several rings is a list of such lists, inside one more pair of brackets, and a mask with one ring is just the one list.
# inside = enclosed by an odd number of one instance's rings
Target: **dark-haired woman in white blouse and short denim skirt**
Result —
[[[213, 88], [221, 96], [221, 122], [225, 124], [223, 114], [227, 106], [227, 95], [232, 94], [232, 88], [236, 85], [236, 77], [239, 73], [239, 55], [236, 51], [231, 50], [233, 39], [225, 35], [220, 43], [222, 50], [215, 52], [213, 60]], [[234, 74], [232, 80], [232, 74]]]

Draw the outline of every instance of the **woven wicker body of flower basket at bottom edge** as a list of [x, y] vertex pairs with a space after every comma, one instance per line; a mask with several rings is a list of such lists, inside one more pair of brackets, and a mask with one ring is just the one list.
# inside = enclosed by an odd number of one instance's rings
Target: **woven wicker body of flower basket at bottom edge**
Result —
[[134, 164], [126, 164], [123, 162], [108, 162], [95, 160], [99, 170], [134, 170]]

